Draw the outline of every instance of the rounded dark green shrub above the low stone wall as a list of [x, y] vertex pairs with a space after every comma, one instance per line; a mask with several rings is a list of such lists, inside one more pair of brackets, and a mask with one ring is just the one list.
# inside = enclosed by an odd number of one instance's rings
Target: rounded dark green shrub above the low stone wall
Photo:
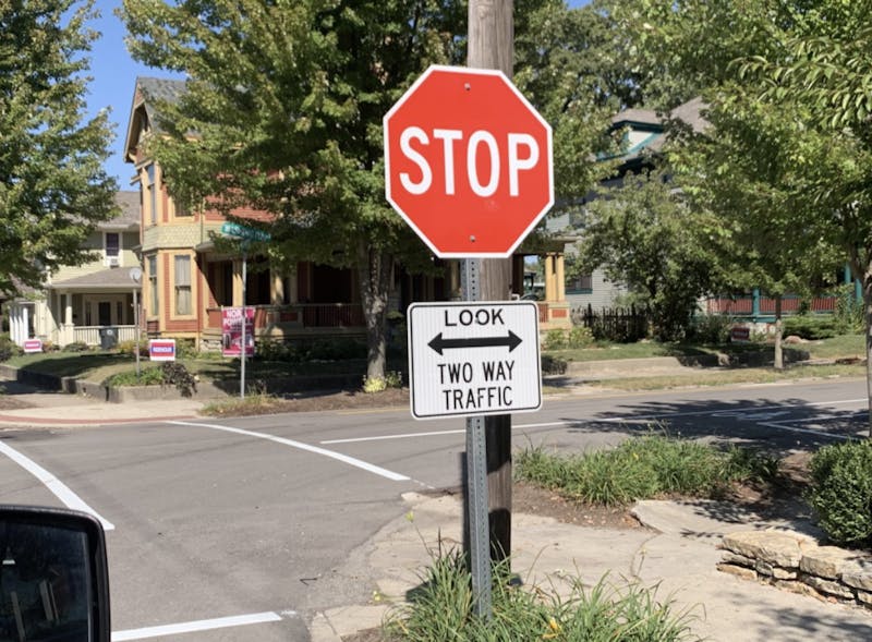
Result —
[[821, 448], [811, 459], [809, 501], [836, 544], [872, 546], [872, 440]]

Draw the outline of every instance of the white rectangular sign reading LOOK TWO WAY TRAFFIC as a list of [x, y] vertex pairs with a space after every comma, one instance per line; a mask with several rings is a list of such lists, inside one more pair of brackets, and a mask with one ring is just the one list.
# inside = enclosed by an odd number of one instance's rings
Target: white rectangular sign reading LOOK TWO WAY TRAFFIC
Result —
[[415, 419], [509, 414], [542, 407], [535, 303], [413, 303], [407, 322]]

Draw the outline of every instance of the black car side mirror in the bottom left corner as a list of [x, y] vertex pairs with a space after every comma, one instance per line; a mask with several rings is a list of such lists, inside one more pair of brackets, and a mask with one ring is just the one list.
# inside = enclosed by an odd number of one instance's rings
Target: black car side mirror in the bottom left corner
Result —
[[0, 640], [110, 638], [100, 522], [72, 510], [0, 505]]

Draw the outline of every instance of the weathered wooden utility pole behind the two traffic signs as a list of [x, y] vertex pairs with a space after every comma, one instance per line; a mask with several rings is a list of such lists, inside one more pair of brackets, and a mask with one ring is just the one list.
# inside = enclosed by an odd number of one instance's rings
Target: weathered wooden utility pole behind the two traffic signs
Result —
[[[498, 69], [509, 78], [514, 66], [513, 0], [470, 0], [467, 65]], [[511, 258], [482, 259], [483, 301], [511, 298]], [[511, 553], [511, 415], [485, 419], [487, 500], [492, 559]]]

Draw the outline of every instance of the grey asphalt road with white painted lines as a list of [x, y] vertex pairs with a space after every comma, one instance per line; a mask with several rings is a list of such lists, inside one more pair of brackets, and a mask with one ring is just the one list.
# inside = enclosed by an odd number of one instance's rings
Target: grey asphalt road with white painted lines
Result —
[[[863, 436], [865, 405], [862, 380], [549, 398], [513, 443], [665, 429], [786, 452]], [[463, 433], [408, 409], [9, 429], [0, 502], [72, 495], [111, 525], [116, 640], [306, 640], [315, 611], [370, 598], [355, 552], [401, 493], [459, 483]]]

